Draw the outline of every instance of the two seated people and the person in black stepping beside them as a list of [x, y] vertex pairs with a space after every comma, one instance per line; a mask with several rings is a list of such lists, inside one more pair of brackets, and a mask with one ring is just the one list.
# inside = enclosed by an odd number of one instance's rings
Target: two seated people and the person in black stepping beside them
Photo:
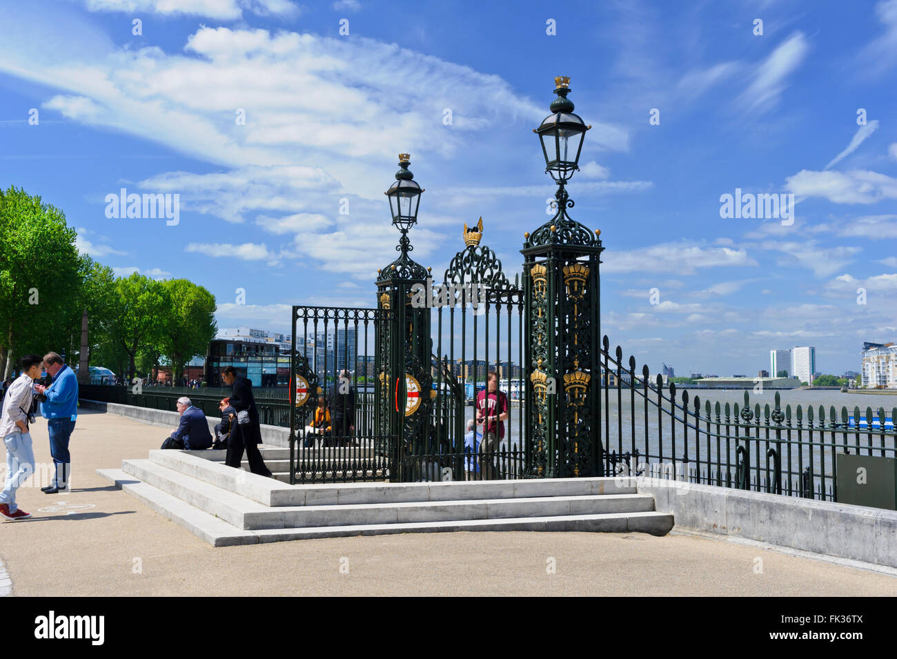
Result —
[[222, 381], [231, 387], [231, 395], [218, 403], [222, 421], [215, 426], [215, 438], [209, 431], [205, 412], [195, 407], [187, 396], [181, 396], [178, 399], [178, 428], [165, 438], [161, 448], [187, 451], [227, 449], [224, 464], [237, 469], [243, 464], [245, 452], [249, 471], [273, 477], [258, 450], [258, 445], [262, 443], [262, 429], [256, 399], [252, 395], [252, 383], [245, 377], [238, 377], [237, 370], [232, 366], [222, 370]]

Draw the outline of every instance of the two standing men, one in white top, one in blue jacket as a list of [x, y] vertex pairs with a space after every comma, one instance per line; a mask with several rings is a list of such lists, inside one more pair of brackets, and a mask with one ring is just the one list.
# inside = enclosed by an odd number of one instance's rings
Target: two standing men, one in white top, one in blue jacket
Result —
[[[30, 425], [37, 414], [47, 420], [54, 464], [53, 480], [40, 489], [45, 494], [57, 494], [70, 487], [72, 465], [68, 443], [78, 416], [78, 378], [56, 352], [48, 352], [43, 357], [25, 355], [19, 360], [19, 368], [21, 375], [4, 386], [0, 413], [0, 438], [6, 449], [0, 517], [10, 522], [30, 517], [30, 513], [16, 504], [15, 494], [34, 473]], [[41, 377], [51, 378], [49, 386], [35, 383]]]

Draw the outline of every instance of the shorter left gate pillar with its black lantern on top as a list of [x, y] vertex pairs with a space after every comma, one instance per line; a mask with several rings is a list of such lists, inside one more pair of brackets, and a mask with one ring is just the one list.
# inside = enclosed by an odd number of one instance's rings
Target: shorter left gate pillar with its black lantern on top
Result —
[[[401, 232], [395, 261], [379, 270], [377, 300], [379, 323], [377, 351], [379, 383], [376, 427], [380, 435], [396, 441], [397, 480], [406, 477], [405, 456], [419, 455], [430, 422], [431, 390], [430, 308], [415, 308], [412, 289], [427, 285], [430, 273], [409, 256], [413, 251], [408, 231], [417, 224], [423, 188], [408, 169], [411, 158], [399, 153], [396, 182], [384, 193], [389, 200], [392, 223]], [[410, 477], [410, 476], [407, 476]]]

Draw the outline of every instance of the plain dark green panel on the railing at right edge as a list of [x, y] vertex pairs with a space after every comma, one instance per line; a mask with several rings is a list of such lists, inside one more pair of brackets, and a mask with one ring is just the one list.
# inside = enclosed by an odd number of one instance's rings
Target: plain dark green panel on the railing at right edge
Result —
[[897, 510], [897, 458], [839, 453], [838, 503]]

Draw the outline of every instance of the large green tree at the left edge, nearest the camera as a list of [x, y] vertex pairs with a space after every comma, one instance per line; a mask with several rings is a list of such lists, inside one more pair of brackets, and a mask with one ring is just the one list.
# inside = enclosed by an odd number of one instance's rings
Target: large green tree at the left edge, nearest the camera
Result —
[[[10, 187], [0, 190], [0, 374], [13, 355], [65, 352], [83, 284], [77, 234], [62, 211]], [[80, 323], [81, 314], [77, 313]], [[71, 360], [71, 353], [66, 354]]]

